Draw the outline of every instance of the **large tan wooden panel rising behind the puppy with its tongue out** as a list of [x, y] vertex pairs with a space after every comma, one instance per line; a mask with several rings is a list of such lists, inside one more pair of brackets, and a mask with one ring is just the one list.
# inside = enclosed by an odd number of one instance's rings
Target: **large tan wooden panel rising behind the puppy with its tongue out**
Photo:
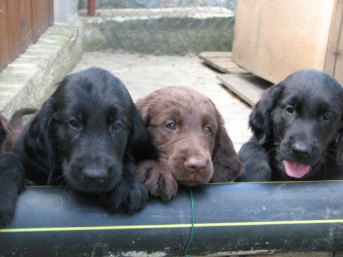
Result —
[[233, 61], [277, 83], [299, 69], [324, 71], [335, 0], [239, 0]]

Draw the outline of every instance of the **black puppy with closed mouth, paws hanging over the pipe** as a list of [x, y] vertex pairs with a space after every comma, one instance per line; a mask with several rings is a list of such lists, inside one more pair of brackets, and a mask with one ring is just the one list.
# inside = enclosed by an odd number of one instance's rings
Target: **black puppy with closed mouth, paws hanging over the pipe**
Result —
[[0, 223], [12, 219], [24, 174], [38, 185], [98, 195], [110, 212], [132, 215], [148, 197], [135, 174], [140, 148], [149, 153], [151, 141], [123, 83], [97, 68], [67, 75], [0, 157]]

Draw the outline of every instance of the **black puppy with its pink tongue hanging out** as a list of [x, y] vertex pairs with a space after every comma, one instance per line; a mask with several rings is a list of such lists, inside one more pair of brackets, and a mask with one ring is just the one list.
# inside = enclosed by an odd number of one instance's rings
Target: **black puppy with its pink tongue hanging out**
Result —
[[297, 71], [268, 88], [249, 125], [253, 136], [239, 151], [237, 181], [343, 177], [343, 89], [326, 73]]

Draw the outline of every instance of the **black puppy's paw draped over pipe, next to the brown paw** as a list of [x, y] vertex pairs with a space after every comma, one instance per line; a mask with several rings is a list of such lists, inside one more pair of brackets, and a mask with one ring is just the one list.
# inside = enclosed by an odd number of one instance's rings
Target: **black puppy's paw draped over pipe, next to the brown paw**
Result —
[[100, 194], [99, 199], [110, 212], [133, 215], [145, 206], [148, 194], [138, 180], [121, 181], [112, 191]]

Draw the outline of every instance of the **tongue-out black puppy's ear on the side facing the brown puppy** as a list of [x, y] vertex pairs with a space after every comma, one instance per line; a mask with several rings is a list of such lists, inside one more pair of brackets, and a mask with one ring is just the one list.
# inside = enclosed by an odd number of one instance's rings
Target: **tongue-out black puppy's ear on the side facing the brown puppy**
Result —
[[270, 133], [270, 112], [274, 109], [283, 89], [283, 82], [276, 84], [263, 93], [261, 99], [252, 108], [249, 127], [259, 143], [264, 143]]

